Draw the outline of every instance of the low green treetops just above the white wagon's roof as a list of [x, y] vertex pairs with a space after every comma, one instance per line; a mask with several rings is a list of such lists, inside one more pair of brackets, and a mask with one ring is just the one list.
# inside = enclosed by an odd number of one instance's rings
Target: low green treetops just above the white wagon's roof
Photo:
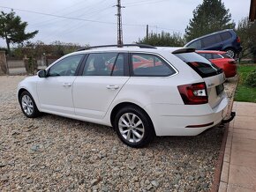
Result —
[[144, 37], [139, 40], [138, 43], [144, 43], [152, 46], [169, 46], [169, 47], [181, 47], [184, 46], [184, 38], [180, 33], [165, 33], [162, 31], [159, 33], [149, 33], [148, 38]]

